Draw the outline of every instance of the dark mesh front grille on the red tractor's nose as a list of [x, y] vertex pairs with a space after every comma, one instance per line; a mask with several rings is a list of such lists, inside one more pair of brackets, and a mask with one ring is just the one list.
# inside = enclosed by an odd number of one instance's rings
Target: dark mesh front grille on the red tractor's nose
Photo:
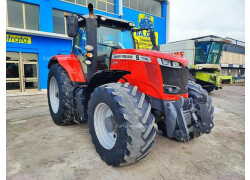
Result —
[[188, 86], [188, 68], [173, 68], [167, 66], [160, 66], [162, 72], [162, 79], [164, 85], [177, 86], [180, 91], [177, 93], [167, 93], [167, 94], [186, 94]]

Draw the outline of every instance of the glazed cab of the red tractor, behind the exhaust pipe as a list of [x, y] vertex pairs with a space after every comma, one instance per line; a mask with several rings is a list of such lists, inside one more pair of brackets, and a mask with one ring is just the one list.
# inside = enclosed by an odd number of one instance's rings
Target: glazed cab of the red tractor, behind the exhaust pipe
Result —
[[[86, 16], [82, 17], [87, 18]], [[93, 37], [93, 39], [97, 40], [97, 49], [95, 51], [96, 71], [108, 70], [110, 68], [111, 55], [115, 49], [134, 49], [134, 41], [131, 34], [131, 28], [134, 27], [134, 23], [125, 20], [118, 21], [102, 15], [95, 15], [94, 18], [97, 20], [97, 34], [96, 37]], [[86, 29], [86, 19], [80, 17], [72, 50], [72, 53], [82, 63], [85, 75], [87, 74], [87, 66], [92, 63], [89, 58], [94, 56], [92, 52], [94, 47], [92, 46], [92, 50], [91, 45], [87, 43]], [[93, 40], [89, 39], [89, 42], [91, 41]]]

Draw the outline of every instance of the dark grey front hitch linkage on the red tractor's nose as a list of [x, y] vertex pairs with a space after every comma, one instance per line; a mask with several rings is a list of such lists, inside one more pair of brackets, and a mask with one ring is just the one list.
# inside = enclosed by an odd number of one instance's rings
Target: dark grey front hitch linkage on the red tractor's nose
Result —
[[198, 102], [195, 107], [192, 98], [180, 97], [179, 101], [164, 101], [163, 104], [169, 138], [185, 143], [197, 135], [209, 134], [214, 127], [206, 103]]

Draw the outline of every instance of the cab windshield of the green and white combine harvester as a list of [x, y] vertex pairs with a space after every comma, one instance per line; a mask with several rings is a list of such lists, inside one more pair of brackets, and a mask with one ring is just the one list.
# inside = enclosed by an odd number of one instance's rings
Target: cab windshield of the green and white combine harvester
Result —
[[195, 64], [219, 64], [223, 43], [197, 42], [195, 44]]

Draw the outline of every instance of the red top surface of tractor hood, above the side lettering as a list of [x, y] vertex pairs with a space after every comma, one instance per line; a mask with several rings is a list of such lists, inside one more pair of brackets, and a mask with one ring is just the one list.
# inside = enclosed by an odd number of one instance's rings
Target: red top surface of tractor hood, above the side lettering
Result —
[[182, 58], [180, 56], [168, 54], [165, 52], [159, 52], [159, 51], [152, 51], [152, 50], [142, 50], [142, 49], [116, 49], [113, 51], [113, 54], [138, 54], [141, 56], [147, 56], [147, 57], [154, 57], [154, 58], [161, 58], [171, 61], [176, 61], [181, 63], [183, 66], [188, 65], [188, 60], [185, 58]]

